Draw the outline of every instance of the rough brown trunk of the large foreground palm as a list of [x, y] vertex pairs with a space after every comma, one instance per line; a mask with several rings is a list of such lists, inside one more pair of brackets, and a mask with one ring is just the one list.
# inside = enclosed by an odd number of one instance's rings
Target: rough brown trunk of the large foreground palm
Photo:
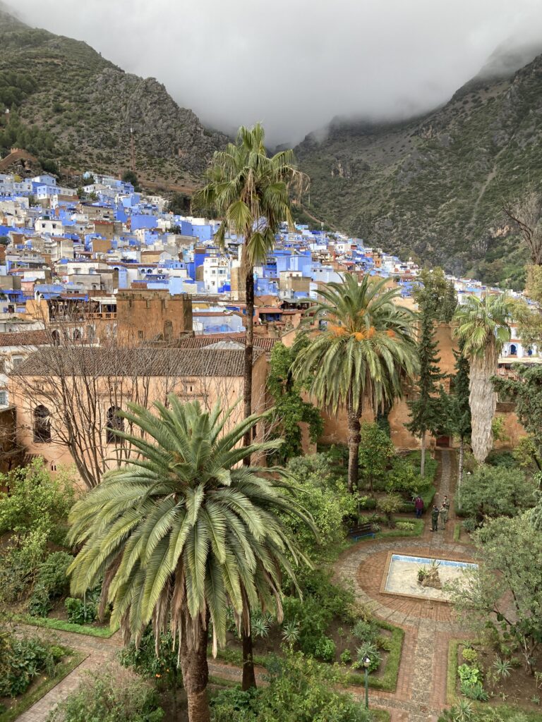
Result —
[[210, 722], [209, 700], [207, 699], [207, 630], [200, 625], [197, 647], [189, 649], [185, 630], [181, 642], [181, 670], [188, 700], [189, 722]]

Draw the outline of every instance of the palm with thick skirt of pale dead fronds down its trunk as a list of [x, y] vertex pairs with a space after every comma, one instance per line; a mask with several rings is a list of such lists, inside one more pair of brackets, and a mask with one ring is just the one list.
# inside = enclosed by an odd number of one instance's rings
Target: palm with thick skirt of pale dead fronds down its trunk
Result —
[[470, 362], [469, 404], [472, 432], [470, 443], [480, 464], [493, 446], [493, 421], [496, 393], [491, 377], [497, 370], [497, 361], [503, 344], [510, 339], [510, 306], [503, 295], [483, 299], [469, 296], [454, 316], [455, 336], [463, 344], [463, 355]]

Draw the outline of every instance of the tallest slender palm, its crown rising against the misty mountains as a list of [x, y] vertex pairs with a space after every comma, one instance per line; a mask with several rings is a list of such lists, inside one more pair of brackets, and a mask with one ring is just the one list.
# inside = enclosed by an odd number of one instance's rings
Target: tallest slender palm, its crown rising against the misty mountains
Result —
[[[257, 123], [241, 126], [236, 144], [215, 152], [206, 173], [207, 184], [194, 195], [194, 204], [212, 208], [223, 219], [215, 241], [220, 248], [226, 235], [243, 239], [241, 279], [245, 284], [246, 341], [244, 362], [244, 414], [252, 413], [252, 358], [254, 335], [254, 266], [264, 264], [283, 222], [293, 226], [290, 190], [298, 193], [308, 179], [293, 165], [293, 152], [267, 156], [264, 129]], [[241, 281], [240, 279], [240, 281]], [[246, 435], [245, 445], [250, 438]], [[248, 458], [246, 461], [249, 461]]]

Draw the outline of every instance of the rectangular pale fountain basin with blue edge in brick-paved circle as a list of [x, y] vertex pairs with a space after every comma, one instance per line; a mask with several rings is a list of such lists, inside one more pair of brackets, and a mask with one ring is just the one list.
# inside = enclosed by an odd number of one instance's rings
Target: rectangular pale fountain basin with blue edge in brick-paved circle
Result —
[[395, 596], [409, 596], [413, 599], [430, 599], [431, 601], [449, 601], [449, 593], [444, 589], [423, 587], [418, 584], [418, 569], [431, 566], [432, 562], [439, 562], [439, 578], [442, 586], [447, 582], [461, 580], [465, 577], [465, 570], [478, 568], [473, 562], [457, 562], [451, 559], [432, 559], [431, 557], [411, 557], [408, 554], [394, 554], [390, 552], [380, 591]]

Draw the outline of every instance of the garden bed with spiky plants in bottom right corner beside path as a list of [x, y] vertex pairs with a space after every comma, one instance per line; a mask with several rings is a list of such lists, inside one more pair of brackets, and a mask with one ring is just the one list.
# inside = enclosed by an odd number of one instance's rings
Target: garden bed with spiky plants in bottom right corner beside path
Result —
[[[541, 668], [542, 654], [535, 659], [535, 669]], [[468, 677], [470, 669], [480, 671], [480, 684], [486, 699], [476, 700], [481, 707], [498, 705], [499, 712], [506, 708], [504, 703], [517, 705], [530, 712], [529, 719], [542, 722], [542, 679], [531, 677], [525, 671], [519, 656], [500, 656], [497, 651], [478, 641], [451, 640], [448, 651], [447, 702], [457, 703], [465, 699], [461, 690], [463, 675]], [[463, 690], [465, 691], [465, 690]], [[473, 697], [470, 697], [472, 699]], [[516, 710], [517, 711], [517, 710]]]

